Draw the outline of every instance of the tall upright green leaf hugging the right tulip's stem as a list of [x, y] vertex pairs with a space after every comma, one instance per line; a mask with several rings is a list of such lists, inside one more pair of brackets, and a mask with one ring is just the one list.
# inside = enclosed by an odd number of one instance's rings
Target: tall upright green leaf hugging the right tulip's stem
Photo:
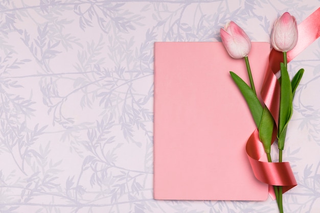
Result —
[[[284, 63], [280, 63], [280, 110], [279, 110], [279, 125], [278, 125], [278, 139], [286, 134], [286, 126], [288, 125], [292, 115], [292, 87], [288, 74], [288, 70]], [[279, 149], [284, 147], [284, 139], [278, 140]]]

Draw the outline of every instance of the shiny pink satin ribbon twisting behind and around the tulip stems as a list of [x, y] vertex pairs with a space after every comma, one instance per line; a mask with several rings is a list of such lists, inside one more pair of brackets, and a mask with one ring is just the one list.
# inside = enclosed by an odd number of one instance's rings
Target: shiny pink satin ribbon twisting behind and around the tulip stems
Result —
[[[300, 23], [298, 35], [298, 43], [295, 48], [287, 53], [288, 62], [320, 36], [320, 8]], [[280, 70], [280, 62], [282, 61], [282, 53], [272, 49], [261, 89], [262, 100], [270, 110], [277, 125], [279, 119], [280, 85], [275, 74]], [[254, 131], [248, 139], [246, 152], [253, 172], [261, 182], [267, 183], [269, 186], [283, 186], [283, 193], [296, 185], [289, 162], [270, 163], [260, 160], [265, 155], [265, 152], [259, 140], [258, 130]], [[275, 199], [272, 187], [269, 187], [269, 194]]]

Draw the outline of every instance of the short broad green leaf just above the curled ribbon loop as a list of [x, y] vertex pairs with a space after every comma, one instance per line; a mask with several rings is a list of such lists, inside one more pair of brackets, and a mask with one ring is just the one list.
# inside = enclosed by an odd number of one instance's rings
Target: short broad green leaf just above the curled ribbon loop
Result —
[[263, 108], [261, 123], [259, 126], [259, 138], [263, 144], [265, 153], [270, 153], [273, 124], [275, 121], [267, 107]]

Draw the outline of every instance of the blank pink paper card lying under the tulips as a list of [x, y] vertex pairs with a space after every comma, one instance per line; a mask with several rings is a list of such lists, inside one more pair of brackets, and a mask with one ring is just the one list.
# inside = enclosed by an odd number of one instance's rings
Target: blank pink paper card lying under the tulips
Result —
[[[252, 43], [257, 91], [269, 52]], [[221, 42], [155, 42], [154, 55], [154, 199], [266, 200], [245, 152], [256, 126], [229, 73], [249, 82], [244, 60]]]

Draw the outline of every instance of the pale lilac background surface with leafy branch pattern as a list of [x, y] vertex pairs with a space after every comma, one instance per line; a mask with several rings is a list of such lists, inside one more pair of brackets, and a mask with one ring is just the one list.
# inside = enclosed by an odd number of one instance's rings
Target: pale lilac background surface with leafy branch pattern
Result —
[[[153, 44], [220, 41], [234, 20], [269, 41], [285, 11], [318, 0], [0, 1], [1, 212], [276, 212], [263, 202], [152, 197]], [[294, 61], [285, 212], [320, 209], [320, 40]], [[276, 156], [275, 156], [276, 158]], [[249, 187], [249, 186], [248, 186]], [[214, 193], [214, 192], [213, 192]]]

